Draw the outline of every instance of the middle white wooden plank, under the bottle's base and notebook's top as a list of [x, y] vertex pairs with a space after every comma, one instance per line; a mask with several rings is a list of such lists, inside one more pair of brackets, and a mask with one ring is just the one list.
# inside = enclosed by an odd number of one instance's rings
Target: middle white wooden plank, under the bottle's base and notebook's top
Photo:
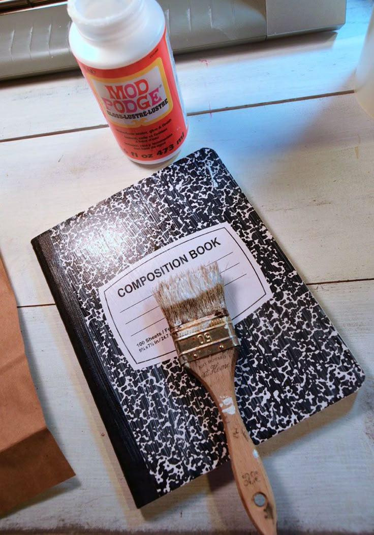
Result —
[[[307, 282], [371, 278], [373, 121], [353, 95], [193, 117]], [[30, 240], [146, 177], [108, 129], [0, 143], [0, 250], [19, 305], [52, 302]], [[27, 162], [27, 164], [25, 164]]]

